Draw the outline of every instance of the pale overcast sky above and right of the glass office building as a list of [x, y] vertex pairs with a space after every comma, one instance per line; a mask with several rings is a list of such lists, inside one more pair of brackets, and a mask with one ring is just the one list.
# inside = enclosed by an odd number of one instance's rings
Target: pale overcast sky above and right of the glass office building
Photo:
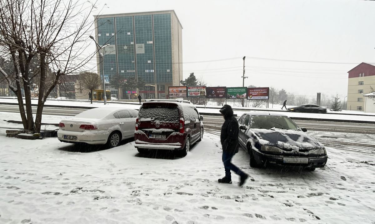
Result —
[[[183, 75], [211, 86], [273, 86], [315, 96], [347, 95], [356, 64], [375, 63], [375, 2], [360, 0], [99, 0], [102, 14], [175, 10], [183, 26]], [[94, 49], [93, 45], [93, 50]], [[216, 62], [189, 63], [228, 59]]]

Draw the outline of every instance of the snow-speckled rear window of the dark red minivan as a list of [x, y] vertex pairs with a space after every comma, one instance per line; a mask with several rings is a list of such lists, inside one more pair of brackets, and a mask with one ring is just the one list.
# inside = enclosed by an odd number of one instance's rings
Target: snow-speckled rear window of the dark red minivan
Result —
[[139, 121], [171, 122], [178, 123], [179, 112], [177, 105], [147, 105], [139, 110]]

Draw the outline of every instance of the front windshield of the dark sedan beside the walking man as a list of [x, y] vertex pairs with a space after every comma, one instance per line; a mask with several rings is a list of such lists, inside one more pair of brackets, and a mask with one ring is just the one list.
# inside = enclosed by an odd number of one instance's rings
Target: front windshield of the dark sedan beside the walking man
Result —
[[299, 129], [295, 123], [285, 116], [267, 116], [267, 115], [253, 115], [251, 116], [250, 128], [263, 129]]

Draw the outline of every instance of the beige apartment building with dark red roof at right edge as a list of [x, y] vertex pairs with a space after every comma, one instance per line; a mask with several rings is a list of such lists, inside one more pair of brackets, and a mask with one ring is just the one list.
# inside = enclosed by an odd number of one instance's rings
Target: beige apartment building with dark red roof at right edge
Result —
[[365, 94], [375, 89], [375, 66], [362, 62], [348, 71], [347, 110], [364, 111]]

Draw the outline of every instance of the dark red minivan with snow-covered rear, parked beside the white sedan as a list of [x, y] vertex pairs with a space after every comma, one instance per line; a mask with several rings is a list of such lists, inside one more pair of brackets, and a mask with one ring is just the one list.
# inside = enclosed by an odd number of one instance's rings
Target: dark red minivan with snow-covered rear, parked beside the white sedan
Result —
[[178, 150], [186, 156], [190, 145], [203, 137], [203, 117], [183, 99], [150, 99], [139, 108], [135, 123], [135, 148]]

